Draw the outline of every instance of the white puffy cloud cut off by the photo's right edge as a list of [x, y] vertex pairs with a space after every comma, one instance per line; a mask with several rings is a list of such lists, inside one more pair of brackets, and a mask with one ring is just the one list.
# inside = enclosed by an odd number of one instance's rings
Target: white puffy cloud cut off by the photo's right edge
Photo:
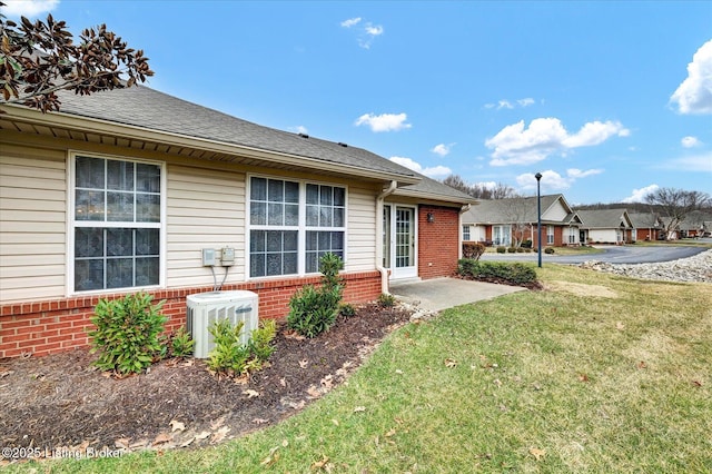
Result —
[[712, 40], [705, 42], [688, 65], [688, 78], [670, 98], [680, 113], [712, 113]]

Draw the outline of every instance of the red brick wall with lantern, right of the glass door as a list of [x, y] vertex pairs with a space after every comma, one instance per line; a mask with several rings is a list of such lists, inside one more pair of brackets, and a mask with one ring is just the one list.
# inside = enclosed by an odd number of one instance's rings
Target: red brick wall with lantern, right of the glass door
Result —
[[[432, 214], [434, 221], [427, 221]], [[418, 276], [423, 279], [451, 276], [459, 255], [458, 209], [421, 206], [418, 210]]]

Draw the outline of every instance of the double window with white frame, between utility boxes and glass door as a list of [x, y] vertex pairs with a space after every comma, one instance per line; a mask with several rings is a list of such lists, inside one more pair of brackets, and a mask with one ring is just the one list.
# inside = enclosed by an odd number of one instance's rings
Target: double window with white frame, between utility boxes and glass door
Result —
[[346, 189], [251, 177], [249, 276], [317, 273], [319, 258], [344, 258]]

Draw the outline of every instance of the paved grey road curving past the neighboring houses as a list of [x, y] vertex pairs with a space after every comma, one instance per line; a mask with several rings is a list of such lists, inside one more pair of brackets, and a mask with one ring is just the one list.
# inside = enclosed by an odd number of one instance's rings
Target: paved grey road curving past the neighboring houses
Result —
[[[575, 265], [589, 260], [605, 261], [609, 264], [650, 264], [655, 261], [670, 261], [679, 258], [692, 257], [704, 250], [706, 247], [684, 247], [679, 245], [635, 247], [626, 246], [594, 246], [601, 250], [600, 254], [582, 255], [550, 255], [542, 254], [542, 264], [565, 264]], [[503, 261], [536, 261], [536, 254], [484, 254], [483, 260]]]

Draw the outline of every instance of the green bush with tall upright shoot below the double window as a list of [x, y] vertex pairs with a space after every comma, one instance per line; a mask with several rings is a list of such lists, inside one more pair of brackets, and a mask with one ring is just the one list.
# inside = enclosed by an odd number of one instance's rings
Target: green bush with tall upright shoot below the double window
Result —
[[303, 336], [314, 337], [334, 325], [344, 294], [343, 278], [338, 275], [343, 267], [344, 263], [337, 255], [325, 254], [319, 259], [322, 286], [317, 289], [305, 285], [289, 299], [289, 328]]

